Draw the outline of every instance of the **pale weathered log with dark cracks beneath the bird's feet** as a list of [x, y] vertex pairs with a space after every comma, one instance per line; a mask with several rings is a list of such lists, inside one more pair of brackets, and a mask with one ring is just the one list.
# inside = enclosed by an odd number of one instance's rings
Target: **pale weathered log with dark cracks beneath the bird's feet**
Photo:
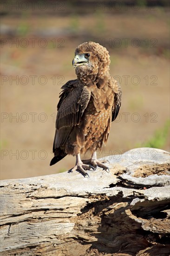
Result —
[[170, 154], [137, 148], [101, 168], [1, 181], [1, 256], [168, 256]]

